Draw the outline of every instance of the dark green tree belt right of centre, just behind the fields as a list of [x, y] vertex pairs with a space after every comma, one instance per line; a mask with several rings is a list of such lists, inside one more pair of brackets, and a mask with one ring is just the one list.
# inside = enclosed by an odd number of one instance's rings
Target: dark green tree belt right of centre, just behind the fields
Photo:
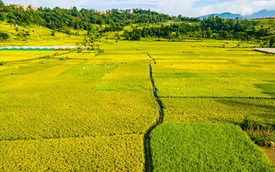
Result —
[[140, 37], [161, 37], [175, 39], [181, 36], [196, 38], [214, 39], [241, 39], [250, 40], [261, 36], [270, 35], [270, 28], [258, 26], [259, 22], [241, 20], [226, 20], [220, 17], [208, 17], [197, 23], [179, 23], [172, 25], [161, 25], [161, 27], [151, 27], [143, 29], [133, 29], [124, 32], [124, 37], [129, 40], [139, 40]]

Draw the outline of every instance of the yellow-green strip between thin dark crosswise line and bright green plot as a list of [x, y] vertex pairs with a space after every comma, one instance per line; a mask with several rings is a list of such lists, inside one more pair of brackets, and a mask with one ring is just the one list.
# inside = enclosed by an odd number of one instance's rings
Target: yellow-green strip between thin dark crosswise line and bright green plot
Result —
[[245, 98], [161, 98], [164, 122], [223, 123], [239, 125], [245, 116], [272, 126], [275, 100]]

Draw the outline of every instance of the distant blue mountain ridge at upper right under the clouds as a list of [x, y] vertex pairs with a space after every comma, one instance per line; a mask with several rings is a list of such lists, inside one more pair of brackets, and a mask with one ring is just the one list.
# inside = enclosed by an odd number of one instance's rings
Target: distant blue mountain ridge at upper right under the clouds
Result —
[[241, 14], [232, 14], [230, 12], [223, 12], [221, 14], [208, 14], [205, 16], [201, 16], [199, 17], [200, 19], [203, 18], [208, 18], [208, 17], [221, 17], [223, 19], [255, 19], [255, 18], [263, 18], [263, 17], [273, 17], [275, 16], [275, 10], [261, 10], [259, 12], [255, 12], [254, 14], [251, 15], [246, 15], [246, 16], [242, 16]]

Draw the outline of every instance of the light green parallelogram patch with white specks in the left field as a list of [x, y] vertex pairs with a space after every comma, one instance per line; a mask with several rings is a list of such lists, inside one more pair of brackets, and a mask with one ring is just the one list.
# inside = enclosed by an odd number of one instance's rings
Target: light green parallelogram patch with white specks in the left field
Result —
[[60, 75], [62, 78], [101, 78], [118, 65], [77, 65]]

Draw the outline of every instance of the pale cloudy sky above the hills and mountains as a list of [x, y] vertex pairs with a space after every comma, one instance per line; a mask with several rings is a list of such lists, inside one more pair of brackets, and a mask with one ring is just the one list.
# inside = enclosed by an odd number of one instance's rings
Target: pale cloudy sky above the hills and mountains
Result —
[[108, 10], [111, 8], [143, 8], [165, 14], [181, 14], [188, 17], [199, 17], [204, 14], [232, 12], [242, 15], [252, 14], [259, 10], [275, 10], [275, 0], [3, 0], [4, 3], [32, 4], [36, 7], [56, 6], [62, 8], [87, 8]]

